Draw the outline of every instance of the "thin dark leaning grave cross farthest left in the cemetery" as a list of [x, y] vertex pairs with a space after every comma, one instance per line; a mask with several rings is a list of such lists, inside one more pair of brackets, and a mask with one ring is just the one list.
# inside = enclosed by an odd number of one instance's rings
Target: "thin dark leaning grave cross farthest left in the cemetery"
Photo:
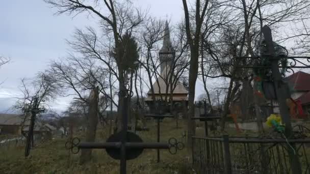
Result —
[[44, 108], [39, 108], [39, 103], [38, 103], [37, 97], [33, 98], [33, 105], [31, 106], [31, 108], [24, 110], [25, 113], [27, 113], [27, 112], [31, 113], [31, 120], [30, 120], [29, 129], [28, 129], [27, 142], [26, 142], [26, 146], [25, 146], [25, 157], [28, 157], [30, 154], [31, 142], [32, 142], [32, 145], [34, 143], [33, 129], [35, 126], [36, 114], [44, 112], [44, 111], [45, 111]]

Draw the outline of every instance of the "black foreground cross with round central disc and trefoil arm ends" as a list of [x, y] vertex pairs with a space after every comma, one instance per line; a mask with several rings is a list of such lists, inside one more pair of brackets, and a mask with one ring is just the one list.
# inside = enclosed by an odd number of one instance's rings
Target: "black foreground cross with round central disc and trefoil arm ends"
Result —
[[[126, 173], [126, 161], [135, 159], [144, 149], [169, 149], [169, 152], [177, 152], [178, 142], [175, 138], [170, 138], [168, 143], [163, 142], [143, 142], [139, 135], [127, 131], [127, 106], [128, 99], [133, 96], [133, 92], [121, 92], [123, 98], [122, 130], [111, 135], [106, 142], [81, 142], [79, 138], [73, 138], [66, 142], [66, 149], [73, 154], [79, 153], [80, 149], [106, 149], [109, 156], [120, 160], [120, 173]], [[175, 154], [174, 153], [174, 154]], [[173, 154], [173, 153], [172, 153]]]

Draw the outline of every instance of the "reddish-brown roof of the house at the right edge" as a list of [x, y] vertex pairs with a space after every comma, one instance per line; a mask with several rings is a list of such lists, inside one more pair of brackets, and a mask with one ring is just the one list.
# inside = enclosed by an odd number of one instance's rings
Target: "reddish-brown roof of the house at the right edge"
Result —
[[298, 71], [287, 77], [294, 91], [310, 91], [310, 74]]

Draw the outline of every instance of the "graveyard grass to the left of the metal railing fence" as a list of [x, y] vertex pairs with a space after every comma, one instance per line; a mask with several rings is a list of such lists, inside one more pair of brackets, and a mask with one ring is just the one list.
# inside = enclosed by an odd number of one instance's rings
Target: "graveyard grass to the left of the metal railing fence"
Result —
[[[156, 122], [148, 122], [150, 131], [139, 132], [144, 142], [156, 142]], [[175, 122], [165, 119], [161, 123], [161, 141], [167, 142], [170, 137], [178, 140], [185, 131], [184, 124], [179, 121], [179, 129]], [[97, 141], [105, 141], [108, 128], [98, 129]], [[81, 133], [80, 133], [81, 135]], [[79, 135], [76, 135], [79, 136]], [[83, 136], [79, 136], [83, 139]], [[53, 139], [38, 144], [31, 155], [25, 158], [24, 147], [0, 148], [0, 173], [119, 173], [119, 161], [112, 159], [105, 150], [93, 150], [92, 160], [79, 165], [80, 154], [70, 154], [65, 149], [65, 139]], [[156, 150], [144, 150], [136, 159], [127, 162], [127, 173], [191, 173], [188, 151], [178, 151], [170, 155], [168, 150], [161, 150], [161, 162], [156, 163]]]

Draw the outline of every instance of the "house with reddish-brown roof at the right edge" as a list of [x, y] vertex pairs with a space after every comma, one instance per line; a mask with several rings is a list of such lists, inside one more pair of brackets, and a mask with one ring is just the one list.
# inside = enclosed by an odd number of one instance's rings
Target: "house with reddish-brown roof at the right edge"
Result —
[[310, 115], [310, 74], [298, 71], [287, 77], [291, 98], [300, 103], [304, 114]]

